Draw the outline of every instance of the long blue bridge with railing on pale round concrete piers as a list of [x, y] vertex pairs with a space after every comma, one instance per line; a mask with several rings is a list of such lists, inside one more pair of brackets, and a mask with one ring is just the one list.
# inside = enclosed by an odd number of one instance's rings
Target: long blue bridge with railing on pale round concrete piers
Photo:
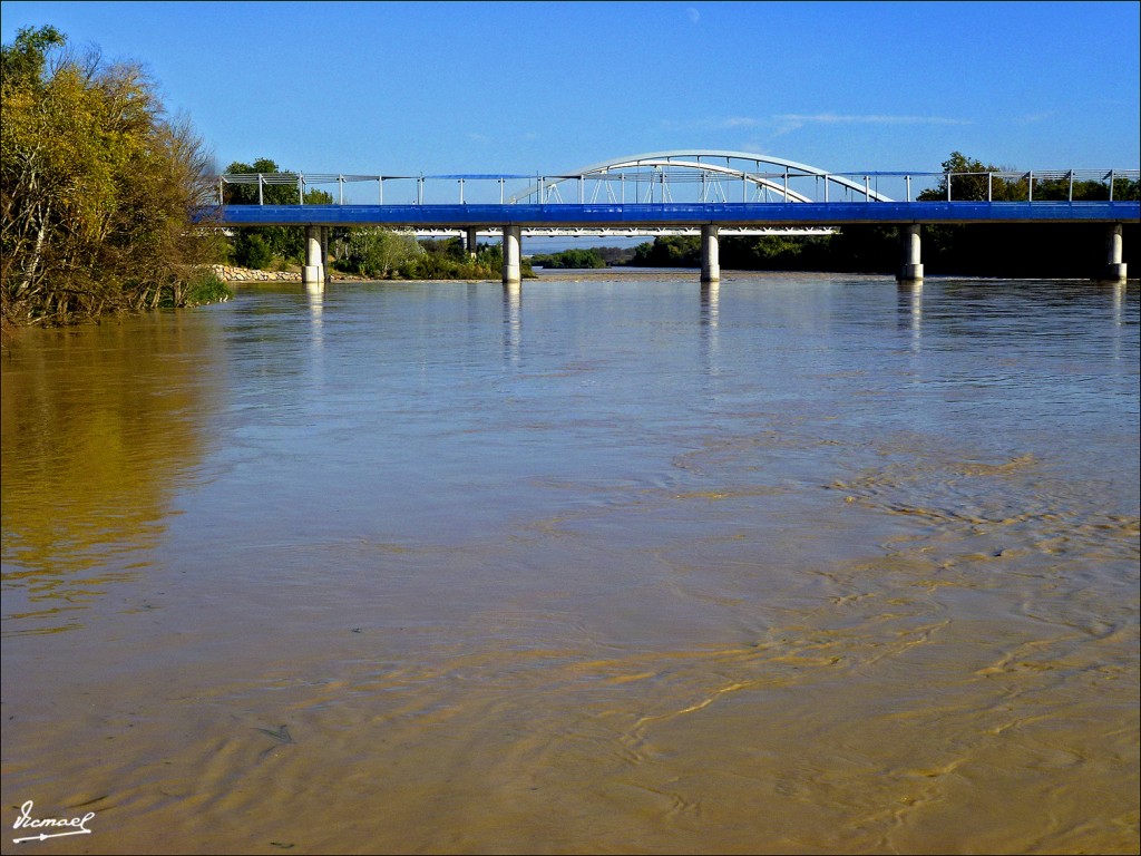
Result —
[[[1107, 227], [1101, 278], [1124, 281], [1122, 225], [1141, 221], [1141, 202], [1120, 195], [1135, 197], [1139, 184], [1136, 169], [837, 173], [747, 152], [671, 151], [535, 176], [222, 175], [218, 205], [203, 219], [225, 227], [304, 226], [302, 280], [317, 288], [325, 282], [329, 233], [337, 226], [460, 234], [472, 253], [479, 234], [502, 235], [503, 282], [518, 283], [524, 235], [699, 233], [701, 277], [715, 282], [722, 236], [827, 234], [849, 224], [881, 224], [899, 228], [898, 278], [913, 282], [923, 278], [924, 225], [1100, 223]], [[280, 185], [297, 188], [296, 203], [266, 204], [266, 188]], [[334, 203], [306, 204], [308, 188], [330, 185], [337, 186]], [[361, 188], [370, 187], [375, 202], [362, 202]], [[346, 202], [347, 188], [356, 200]]]

